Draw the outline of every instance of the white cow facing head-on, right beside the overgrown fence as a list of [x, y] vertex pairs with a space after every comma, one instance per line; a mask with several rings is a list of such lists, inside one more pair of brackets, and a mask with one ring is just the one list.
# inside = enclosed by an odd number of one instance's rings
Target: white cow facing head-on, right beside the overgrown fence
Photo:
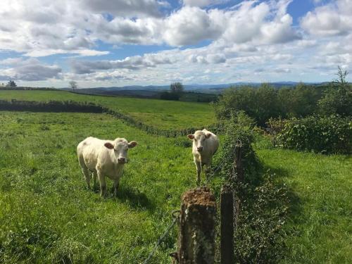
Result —
[[187, 137], [193, 140], [192, 153], [197, 170], [197, 184], [199, 185], [201, 183], [203, 165], [206, 165], [206, 168], [210, 166], [211, 159], [218, 150], [219, 139], [206, 129], [197, 130], [194, 134], [189, 134]]

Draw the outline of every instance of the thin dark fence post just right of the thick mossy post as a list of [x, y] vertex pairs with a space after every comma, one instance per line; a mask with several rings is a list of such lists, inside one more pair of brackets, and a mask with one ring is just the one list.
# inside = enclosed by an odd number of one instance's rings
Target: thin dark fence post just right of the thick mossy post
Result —
[[225, 184], [220, 194], [220, 263], [234, 263], [234, 192]]

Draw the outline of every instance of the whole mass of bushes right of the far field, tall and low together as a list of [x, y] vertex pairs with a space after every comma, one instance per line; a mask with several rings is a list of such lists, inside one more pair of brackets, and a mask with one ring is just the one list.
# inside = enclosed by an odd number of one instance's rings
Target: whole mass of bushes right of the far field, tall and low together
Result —
[[352, 85], [347, 71], [327, 84], [275, 89], [231, 87], [213, 104], [218, 120], [246, 113], [275, 146], [319, 153], [352, 153]]

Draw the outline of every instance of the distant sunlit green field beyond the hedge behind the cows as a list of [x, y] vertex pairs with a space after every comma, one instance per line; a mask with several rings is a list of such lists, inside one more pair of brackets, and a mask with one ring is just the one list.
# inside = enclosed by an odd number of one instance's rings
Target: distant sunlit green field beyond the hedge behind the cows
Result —
[[163, 101], [129, 97], [89, 96], [61, 91], [1, 91], [0, 99], [27, 101], [89, 101], [122, 111], [132, 118], [161, 128], [203, 127], [215, 120], [208, 103]]

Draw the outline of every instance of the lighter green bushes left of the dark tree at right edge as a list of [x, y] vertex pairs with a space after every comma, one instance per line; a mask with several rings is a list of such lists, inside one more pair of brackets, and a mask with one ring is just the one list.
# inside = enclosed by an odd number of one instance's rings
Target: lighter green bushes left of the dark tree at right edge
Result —
[[260, 87], [231, 87], [216, 103], [215, 114], [228, 119], [233, 111], [244, 111], [264, 126], [270, 118], [305, 117], [317, 111], [318, 100], [325, 87], [297, 84], [295, 87], [275, 89], [268, 84]]

